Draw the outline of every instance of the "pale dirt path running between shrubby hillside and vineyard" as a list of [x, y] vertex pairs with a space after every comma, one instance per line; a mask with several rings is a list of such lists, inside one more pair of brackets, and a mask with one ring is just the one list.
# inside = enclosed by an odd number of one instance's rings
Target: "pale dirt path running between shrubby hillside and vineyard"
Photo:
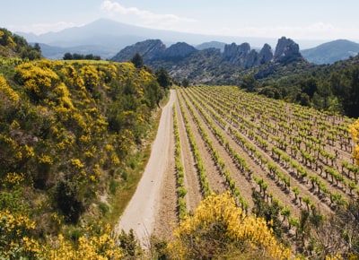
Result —
[[[144, 169], [144, 175], [136, 188], [127, 208], [118, 222], [116, 231], [134, 230], [142, 247], [147, 247], [147, 241], [153, 233], [159, 204], [162, 203], [162, 187], [166, 173], [171, 172], [173, 158], [173, 121], [172, 106], [176, 100], [175, 91], [171, 91], [168, 104], [162, 108], [162, 116], [156, 138], [153, 142], [151, 157]], [[171, 152], [172, 151], [172, 152]], [[161, 202], [161, 203], [160, 203]]]

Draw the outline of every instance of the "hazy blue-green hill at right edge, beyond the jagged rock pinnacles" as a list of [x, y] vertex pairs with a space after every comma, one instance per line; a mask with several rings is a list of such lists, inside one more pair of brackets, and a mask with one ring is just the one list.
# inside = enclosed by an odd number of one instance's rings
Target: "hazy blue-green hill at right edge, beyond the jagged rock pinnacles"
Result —
[[304, 49], [301, 53], [311, 63], [333, 64], [338, 60], [356, 56], [359, 53], [359, 44], [346, 39], [337, 39], [316, 48]]

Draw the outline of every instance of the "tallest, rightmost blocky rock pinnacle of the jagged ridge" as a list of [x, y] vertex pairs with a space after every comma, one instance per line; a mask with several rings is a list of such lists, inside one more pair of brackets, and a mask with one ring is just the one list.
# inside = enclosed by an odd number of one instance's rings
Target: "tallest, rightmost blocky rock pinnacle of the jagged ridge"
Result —
[[302, 59], [302, 55], [299, 52], [299, 45], [293, 39], [286, 39], [285, 37], [278, 39], [273, 57], [275, 63], [286, 65], [300, 59]]

